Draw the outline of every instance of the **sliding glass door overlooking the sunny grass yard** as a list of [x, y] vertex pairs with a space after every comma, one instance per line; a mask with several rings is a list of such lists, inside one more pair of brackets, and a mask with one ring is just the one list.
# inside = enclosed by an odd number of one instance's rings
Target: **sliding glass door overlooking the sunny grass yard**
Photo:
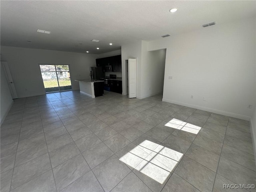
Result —
[[72, 90], [69, 65], [39, 65], [45, 92]]

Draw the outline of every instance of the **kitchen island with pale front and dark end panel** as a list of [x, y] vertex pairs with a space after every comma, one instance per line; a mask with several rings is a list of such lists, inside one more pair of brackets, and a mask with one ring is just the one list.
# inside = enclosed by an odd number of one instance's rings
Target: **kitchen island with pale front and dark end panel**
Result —
[[75, 80], [79, 82], [80, 93], [90, 97], [95, 98], [102, 96], [104, 93], [104, 81], [103, 80], [90, 80], [90, 79], [80, 79]]

